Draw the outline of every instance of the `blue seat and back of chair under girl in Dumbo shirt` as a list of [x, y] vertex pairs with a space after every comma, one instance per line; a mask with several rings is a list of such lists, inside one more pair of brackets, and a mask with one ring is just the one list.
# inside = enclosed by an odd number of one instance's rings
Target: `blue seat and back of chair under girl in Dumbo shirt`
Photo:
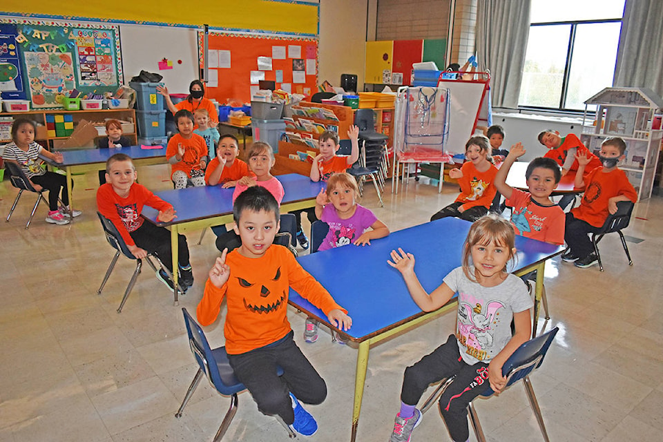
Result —
[[[553, 343], [553, 339], [555, 339], [558, 331], [559, 327], [555, 327], [548, 333], [528, 340], [513, 352], [502, 366], [502, 375], [507, 378], [506, 387], [520, 381], [532, 371], [539, 368], [541, 363], [544, 362], [546, 352], [548, 352], [548, 348]], [[481, 393], [481, 396], [488, 397], [493, 393], [494, 391], [489, 386], [486, 392]]]

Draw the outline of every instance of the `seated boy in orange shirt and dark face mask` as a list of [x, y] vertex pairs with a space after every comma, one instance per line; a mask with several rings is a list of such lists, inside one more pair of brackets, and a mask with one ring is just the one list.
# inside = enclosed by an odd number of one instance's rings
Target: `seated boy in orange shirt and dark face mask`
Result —
[[619, 137], [606, 138], [601, 144], [599, 166], [584, 175], [584, 168], [590, 163], [589, 155], [576, 155], [579, 168], [575, 175], [575, 186], [585, 186], [585, 193], [580, 206], [566, 213], [566, 233], [564, 240], [568, 250], [561, 256], [566, 262], [574, 262], [582, 269], [598, 263], [594, 245], [589, 240], [589, 233], [603, 227], [608, 213], [617, 211], [619, 201], [637, 201], [637, 193], [626, 173], [617, 168], [617, 163], [624, 159], [626, 143]]

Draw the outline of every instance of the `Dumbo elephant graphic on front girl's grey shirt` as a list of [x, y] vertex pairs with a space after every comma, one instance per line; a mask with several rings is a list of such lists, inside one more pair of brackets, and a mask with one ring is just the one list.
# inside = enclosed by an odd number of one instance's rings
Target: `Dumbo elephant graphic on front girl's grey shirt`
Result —
[[[469, 296], [465, 294], [463, 298]], [[457, 338], [467, 354], [479, 361], [486, 359], [493, 344], [494, 329], [491, 324], [499, 322], [499, 309], [504, 307], [499, 300], [490, 300], [485, 305], [475, 302], [474, 307], [468, 302], [460, 302]]]

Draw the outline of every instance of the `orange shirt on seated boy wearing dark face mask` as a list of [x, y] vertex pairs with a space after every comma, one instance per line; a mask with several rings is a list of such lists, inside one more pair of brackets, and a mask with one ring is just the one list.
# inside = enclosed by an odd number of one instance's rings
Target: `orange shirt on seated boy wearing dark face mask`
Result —
[[637, 192], [628, 181], [622, 169], [615, 169], [604, 173], [603, 166], [597, 167], [584, 175], [585, 193], [582, 195], [580, 205], [571, 210], [573, 216], [583, 220], [594, 227], [602, 227], [608, 218], [608, 200], [624, 195], [629, 200], [637, 201]]

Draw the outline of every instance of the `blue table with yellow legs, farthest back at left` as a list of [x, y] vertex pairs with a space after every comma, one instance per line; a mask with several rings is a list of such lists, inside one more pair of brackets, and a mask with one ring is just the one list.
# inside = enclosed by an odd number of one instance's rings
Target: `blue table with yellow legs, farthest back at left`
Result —
[[128, 146], [122, 148], [108, 148], [108, 149], [63, 149], [60, 151], [64, 157], [61, 163], [46, 160], [50, 166], [64, 169], [67, 173], [67, 191], [69, 194], [69, 204], [74, 206], [71, 175], [73, 173], [86, 173], [90, 171], [97, 171], [106, 167], [106, 160], [115, 153], [126, 153], [129, 155], [135, 166], [148, 166], [151, 164], [166, 164], [166, 148], [152, 148], [144, 149], [140, 146]]

